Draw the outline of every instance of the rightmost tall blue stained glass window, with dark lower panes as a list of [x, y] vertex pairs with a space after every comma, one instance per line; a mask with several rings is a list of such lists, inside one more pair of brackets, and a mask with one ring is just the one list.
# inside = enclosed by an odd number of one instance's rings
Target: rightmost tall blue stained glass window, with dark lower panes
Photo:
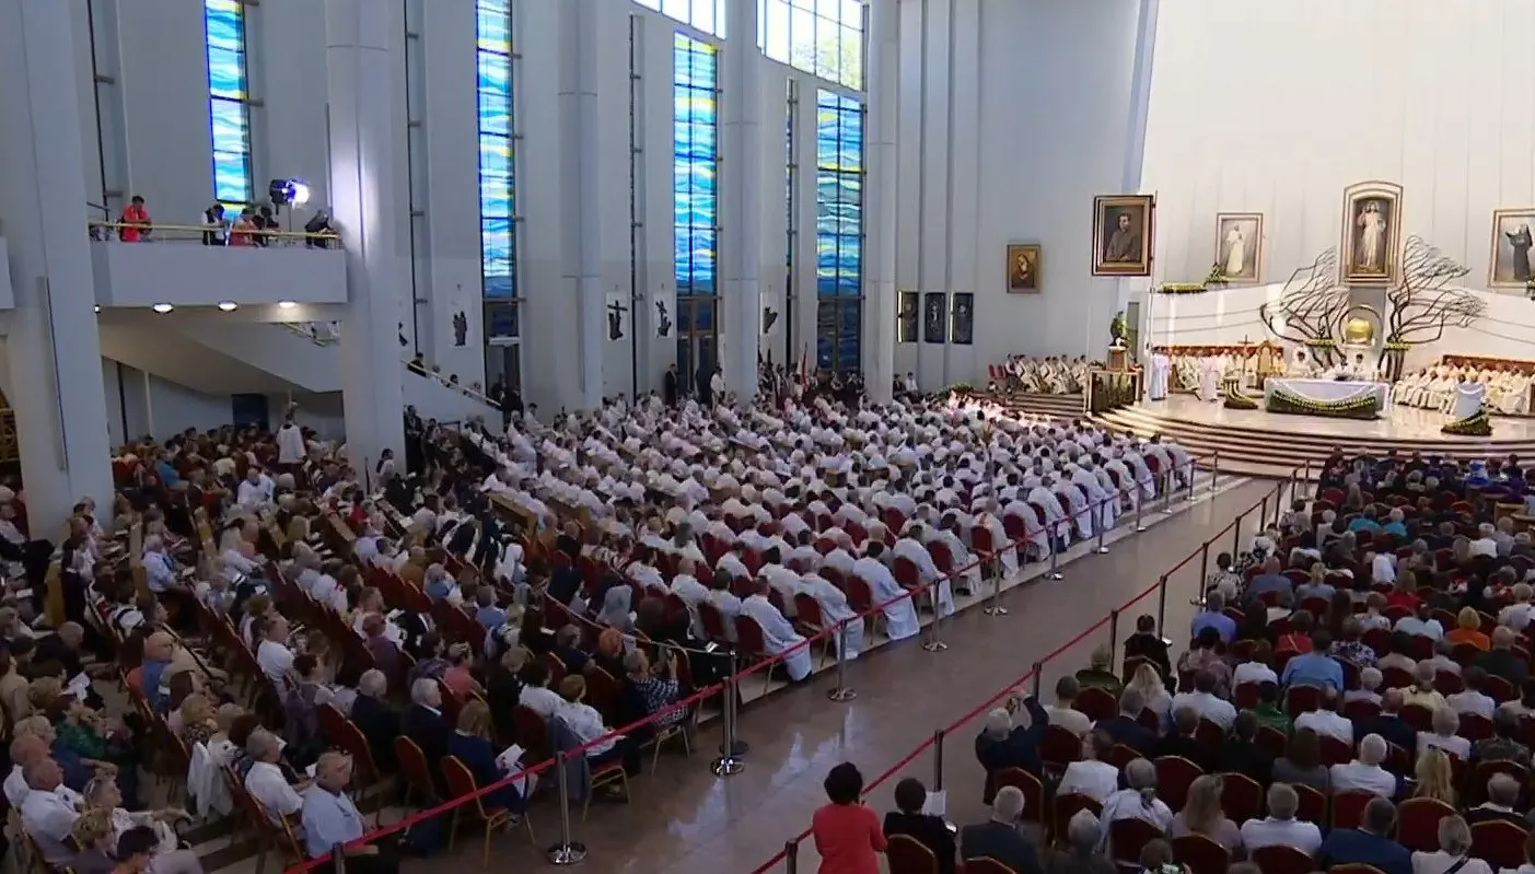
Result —
[[863, 103], [823, 89], [815, 111], [817, 359], [847, 370], [863, 338]]

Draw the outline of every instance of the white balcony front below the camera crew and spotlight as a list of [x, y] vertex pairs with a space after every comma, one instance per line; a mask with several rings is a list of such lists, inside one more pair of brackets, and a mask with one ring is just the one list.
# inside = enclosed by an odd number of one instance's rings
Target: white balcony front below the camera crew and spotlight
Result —
[[[269, 246], [204, 246], [203, 229], [155, 226], [124, 241], [117, 224], [91, 226], [91, 266], [101, 307], [342, 304], [347, 258], [339, 240], [276, 232]], [[132, 229], [129, 237], [132, 237]]]

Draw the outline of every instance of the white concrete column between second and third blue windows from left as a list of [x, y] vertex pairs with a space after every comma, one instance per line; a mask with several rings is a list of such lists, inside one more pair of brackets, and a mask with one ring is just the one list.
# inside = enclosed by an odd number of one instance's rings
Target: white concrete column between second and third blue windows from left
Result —
[[[568, 160], [560, 163], [560, 189], [574, 209], [563, 215], [560, 275], [576, 289], [576, 349], [583, 409], [602, 404], [602, 352], [608, 323], [602, 287], [602, 209], [599, 198], [597, 132], [597, 17], [602, 0], [563, 0], [559, 8], [559, 114], [560, 140]], [[628, 313], [622, 315], [628, 332]]]

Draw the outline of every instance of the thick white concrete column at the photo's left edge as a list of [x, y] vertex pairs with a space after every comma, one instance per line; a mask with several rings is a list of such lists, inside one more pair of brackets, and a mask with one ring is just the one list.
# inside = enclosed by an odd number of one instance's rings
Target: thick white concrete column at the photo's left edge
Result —
[[75, 41], [68, 3], [0, 0], [0, 235], [15, 312], [9, 399], [34, 536], [54, 539], [75, 501], [112, 505]]

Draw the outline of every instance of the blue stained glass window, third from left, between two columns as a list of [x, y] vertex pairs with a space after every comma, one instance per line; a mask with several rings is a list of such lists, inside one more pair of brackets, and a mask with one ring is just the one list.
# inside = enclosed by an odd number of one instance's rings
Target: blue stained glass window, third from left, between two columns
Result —
[[678, 32], [672, 45], [672, 203], [677, 293], [714, 295], [718, 246], [718, 51]]

